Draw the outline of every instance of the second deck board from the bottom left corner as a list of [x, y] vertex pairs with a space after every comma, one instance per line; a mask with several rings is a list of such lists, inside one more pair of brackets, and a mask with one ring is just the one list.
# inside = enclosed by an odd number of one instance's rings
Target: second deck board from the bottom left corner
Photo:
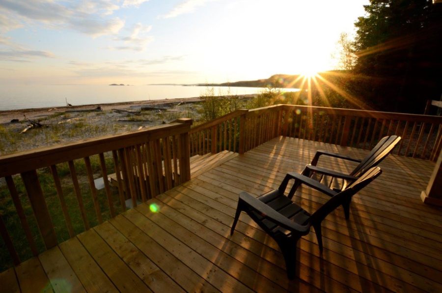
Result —
[[17, 265], [15, 271], [22, 292], [54, 292], [38, 258]]

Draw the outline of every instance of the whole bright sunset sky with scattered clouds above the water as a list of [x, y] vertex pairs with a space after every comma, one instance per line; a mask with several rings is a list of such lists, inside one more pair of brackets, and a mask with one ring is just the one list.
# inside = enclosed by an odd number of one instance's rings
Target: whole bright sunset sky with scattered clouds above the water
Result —
[[194, 84], [336, 67], [368, 0], [0, 0], [0, 85]]

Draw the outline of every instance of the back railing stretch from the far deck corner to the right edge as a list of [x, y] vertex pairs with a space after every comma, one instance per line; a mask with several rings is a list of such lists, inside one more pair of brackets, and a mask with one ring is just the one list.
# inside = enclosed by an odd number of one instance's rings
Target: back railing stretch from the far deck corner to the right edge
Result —
[[386, 135], [402, 140], [398, 155], [436, 160], [442, 117], [306, 106], [282, 106], [281, 135], [371, 149]]

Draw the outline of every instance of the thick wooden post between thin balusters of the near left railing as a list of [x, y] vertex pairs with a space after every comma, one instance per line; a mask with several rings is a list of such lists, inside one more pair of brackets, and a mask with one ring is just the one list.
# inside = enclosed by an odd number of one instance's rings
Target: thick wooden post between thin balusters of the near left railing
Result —
[[35, 170], [21, 174], [26, 191], [28, 192], [29, 202], [34, 211], [37, 220], [38, 229], [46, 249], [57, 245], [57, 237], [55, 235], [54, 225], [49, 215], [48, 206], [46, 205], [43, 191], [41, 190], [40, 181], [38, 180]]

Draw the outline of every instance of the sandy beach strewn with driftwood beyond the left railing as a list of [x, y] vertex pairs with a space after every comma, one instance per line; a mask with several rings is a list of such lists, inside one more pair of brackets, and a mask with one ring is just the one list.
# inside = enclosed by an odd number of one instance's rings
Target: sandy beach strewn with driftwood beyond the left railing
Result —
[[[241, 95], [247, 100], [254, 95]], [[199, 97], [0, 111], [0, 156], [169, 123], [200, 120]], [[96, 110], [99, 108], [99, 110]], [[30, 128], [32, 122], [42, 127]]]

